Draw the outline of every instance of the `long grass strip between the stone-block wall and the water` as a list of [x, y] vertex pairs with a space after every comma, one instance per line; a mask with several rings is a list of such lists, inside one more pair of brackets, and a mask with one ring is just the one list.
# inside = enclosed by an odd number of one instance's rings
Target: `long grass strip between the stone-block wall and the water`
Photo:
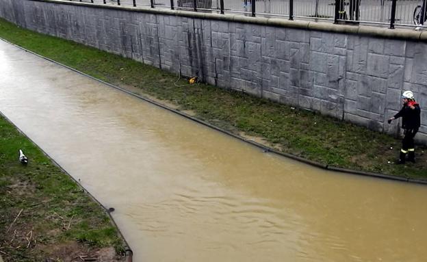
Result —
[[[262, 137], [270, 146], [331, 166], [427, 179], [426, 147], [417, 163], [398, 166], [400, 140], [287, 105], [198, 84], [152, 66], [37, 34], [0, 20], [0, 37], [88, 75], [148, 94], [235, 133]], [[392, 149], [391, 149], [392, 148]], [[391, 163], [389, 163], [391, 162]]]

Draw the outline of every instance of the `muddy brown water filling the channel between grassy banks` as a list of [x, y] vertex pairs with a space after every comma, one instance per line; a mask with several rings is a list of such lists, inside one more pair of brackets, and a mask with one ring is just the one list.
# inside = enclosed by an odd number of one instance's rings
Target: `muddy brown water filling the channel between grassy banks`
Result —
[[427, 257], [425, 186], [262, 153], [1, 40], [0, 76], [0, 111], [116, 209], [134, 261]]

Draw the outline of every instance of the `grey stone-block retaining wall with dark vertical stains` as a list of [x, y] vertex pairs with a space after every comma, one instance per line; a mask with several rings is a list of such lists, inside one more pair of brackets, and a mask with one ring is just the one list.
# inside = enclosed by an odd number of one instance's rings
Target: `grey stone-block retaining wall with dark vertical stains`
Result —
[[[400, 109], [402, 90], [413, 90], [427, 109], [427, 44], [417, 38], [344, 34], [354, 27], [336, 32], [337, 25], [320, 23], [315, 27], [326, 29], [174, 14], [0, 0], [0, 16], [22, 27], [376, 131], [400, 132], [398, 122], [388, 125], [387, 119]], [[427, 143], [427, 113], [417, 139]]]

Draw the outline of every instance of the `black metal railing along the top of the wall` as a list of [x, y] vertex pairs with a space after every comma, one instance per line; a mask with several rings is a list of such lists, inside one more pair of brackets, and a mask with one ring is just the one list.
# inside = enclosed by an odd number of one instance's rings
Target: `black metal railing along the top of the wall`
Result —
[[[122, 6], [148, 6], [289, 20], [331, 21], [398, 27], [424, 27], [427, 0], [70, 0]], [[424, 18], [424, 19], [423, 19]], [[422, 25], [417, 25], [422, 24]]]

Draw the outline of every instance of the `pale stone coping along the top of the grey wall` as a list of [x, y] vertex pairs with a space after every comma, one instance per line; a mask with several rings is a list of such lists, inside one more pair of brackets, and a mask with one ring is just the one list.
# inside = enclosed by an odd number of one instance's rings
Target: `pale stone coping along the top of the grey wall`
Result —
[[64, 0], [29, 0], [48, 3], [60, 3], [64, 5], [82, 5], [86, 7], [126, 10], [129, 12], [142, 12], [149, 14], [163, 14], [169, 16], [183, 16], [187, 18], [209, 19], [216, 21], [233, 21], [236, 23], [250, 23], [255, 25], [271, 25], [274, 27], [307, 29], [312, 31], [326, 31], [337, 34], [354, 34], [358, 36], [373, 36], [376, 38], [388, 38], [396, 40], [411, 40], [415, 42], [427, 42], [427, 31], [415, 31], [411, 29], [389, 29], [387, 27], [371, 27], [366, 25], [335, 25], [333, 23], [313, 21], [289, 21], [288, 18], [266, 18], [243, 16], [239, 14], [211, 14], [205, 12], [192, 12], [183, 10], [170, 10], [166, 8], [128, 7], [121, 5], [103, 5], [96, 3], [82, 3]]

